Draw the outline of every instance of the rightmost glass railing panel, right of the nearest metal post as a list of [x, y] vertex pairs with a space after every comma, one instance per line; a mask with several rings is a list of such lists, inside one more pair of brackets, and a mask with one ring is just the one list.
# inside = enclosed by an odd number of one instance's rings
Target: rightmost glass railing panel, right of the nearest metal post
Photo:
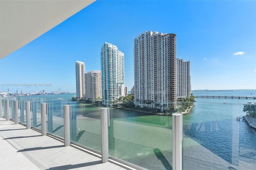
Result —
[[[253, 101], [196, 99], [190, 113], [183, 116], [184, 170], [255, 169], [256, 130], [243, 117], [247, 102]], [[256, 125], [256, 119], [249, 119]]]

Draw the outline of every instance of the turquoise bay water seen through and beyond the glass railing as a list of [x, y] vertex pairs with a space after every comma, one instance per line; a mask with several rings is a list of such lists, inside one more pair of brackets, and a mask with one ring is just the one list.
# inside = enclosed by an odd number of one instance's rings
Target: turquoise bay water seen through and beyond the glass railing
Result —
[[[193, 93], [194, 96], [256, 96], [255, 91]], [[61, 108], [64, 100], [73, 96], [44, 96], [54, 99], [52, 131], [56, 135], [63, 134]], [[195, 100], [190, 113], [183, 116], [183, 169], [255, 170], [256, 130], [244, 121], [237, 121], [236, 117], [245, 115], [243, 104], [256, 100]], [[70, 104], [72, 141], [100, 151], [102, 106], [78, 102]], [[146, 169], [172, 169], [172, 117], [110, 108], [109, 154]]]

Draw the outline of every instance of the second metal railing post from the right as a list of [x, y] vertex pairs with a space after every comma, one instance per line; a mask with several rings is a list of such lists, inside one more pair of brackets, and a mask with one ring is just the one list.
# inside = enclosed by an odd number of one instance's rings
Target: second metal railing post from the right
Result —
[[100, 109], [102, 163], [108, 162], [109, 108]]

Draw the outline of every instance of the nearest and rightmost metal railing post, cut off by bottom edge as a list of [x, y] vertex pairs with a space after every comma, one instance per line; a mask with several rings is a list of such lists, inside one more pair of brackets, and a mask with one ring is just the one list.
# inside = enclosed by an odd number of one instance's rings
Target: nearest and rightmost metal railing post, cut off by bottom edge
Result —
[[172, 170], [182, 170], [182, 114], [172, 114]]

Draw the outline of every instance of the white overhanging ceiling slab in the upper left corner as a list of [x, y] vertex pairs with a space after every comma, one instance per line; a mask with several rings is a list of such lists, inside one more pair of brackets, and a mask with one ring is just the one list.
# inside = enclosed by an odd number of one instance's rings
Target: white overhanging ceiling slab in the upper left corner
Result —
[[0, 0], [0, 59], [95, 0]]

